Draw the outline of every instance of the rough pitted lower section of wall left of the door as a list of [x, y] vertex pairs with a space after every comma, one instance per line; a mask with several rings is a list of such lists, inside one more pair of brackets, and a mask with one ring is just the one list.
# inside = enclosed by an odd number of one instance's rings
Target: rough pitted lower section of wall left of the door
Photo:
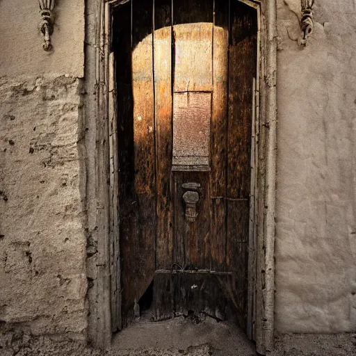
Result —
[[0, 79], [0, 334], [86, 333], [79, 79]]

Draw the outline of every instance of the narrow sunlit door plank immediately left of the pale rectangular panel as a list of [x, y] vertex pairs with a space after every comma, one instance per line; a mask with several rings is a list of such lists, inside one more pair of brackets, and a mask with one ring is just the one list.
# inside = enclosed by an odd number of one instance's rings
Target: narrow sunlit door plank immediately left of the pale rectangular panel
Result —
[[154, 1], [154, 85], [156, 110], [156, 268], [172, 266], [172, 35], [171, 0]]

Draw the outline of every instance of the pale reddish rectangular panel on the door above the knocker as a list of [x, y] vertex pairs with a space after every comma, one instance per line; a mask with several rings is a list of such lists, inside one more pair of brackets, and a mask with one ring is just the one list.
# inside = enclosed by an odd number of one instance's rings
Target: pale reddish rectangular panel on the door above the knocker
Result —
[[208, 166], [211, 93], [179, 92], [173, 96], [173, 159], [179, 166]]

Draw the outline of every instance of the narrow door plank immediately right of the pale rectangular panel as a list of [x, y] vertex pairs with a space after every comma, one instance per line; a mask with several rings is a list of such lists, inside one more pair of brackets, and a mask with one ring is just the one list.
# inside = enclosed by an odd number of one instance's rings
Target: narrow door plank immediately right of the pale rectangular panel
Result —
[[228, 1], [215, 1], [211, 115], [211, 268], [225, 269], [227, 162]]

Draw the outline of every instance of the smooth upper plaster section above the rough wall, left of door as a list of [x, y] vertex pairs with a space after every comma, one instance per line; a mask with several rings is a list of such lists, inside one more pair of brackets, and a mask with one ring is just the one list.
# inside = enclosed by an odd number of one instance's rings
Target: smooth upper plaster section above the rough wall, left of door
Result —
[[0, 1], [0, 77], [83, 76], [84, 0], [56, 1], [53, 51], [42, 49], [38, 0]]

